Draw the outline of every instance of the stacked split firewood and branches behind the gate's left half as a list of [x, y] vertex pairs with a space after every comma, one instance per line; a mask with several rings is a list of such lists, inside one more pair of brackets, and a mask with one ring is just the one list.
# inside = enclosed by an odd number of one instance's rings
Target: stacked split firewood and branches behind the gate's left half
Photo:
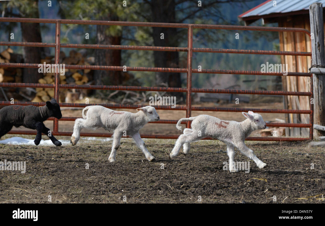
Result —
[[[16, 54], [11, 48], [0, 52], [0, 62], [23, 63], [21, 54]], [[54, 56], [47, 56], [41, 60], [41, 64], [54, 64]], [[63, 51], [60, 52], [60, 64], [71, 65], [94, 65], [95, 57], [86, 57], [82, 51], [71, 50], [66, 56]], [[47, 67], [47, 66], [46, 66]], [[46, 72], [43, 68], [42, 78], [38, 80], [40, 84], [54, 84], [54, 73]], [[121, 72], [123, 77], [123, 85], [125, 86], [141, 86], [141, 83], [129, 72]], [[93, 85], [94, 84], [94, 70], [78, 70], [66, 69], [64, 75], [59, 76], [60, 84], [69, 85]], [[23, 83], [22, 68], [14, 67], [0, 67], [0, 82]], [[2, 90], [1, 90], [2, 89]], [[90, 89], [60, 89], [59, 102], [75, 102], [89, 97], [92, 90]], [[103, 90], [98, 92], [98, 95], [104, 100], [118, 101], [124, 104], [141, 103], [148, 99], [151, 92], [134, 92], [134, 91], [113, 91]], [[157, 92], [157, 94], [159, 94]], [[31, 102], [46, 102], [54, 97], [54, 88], [17, 88], [17, 87], [0, 87], [1, 99], [9, 101], [13, 98], [15, 101], [31, 101]], [[2, 97], [3, 96], [3, 97]]]

